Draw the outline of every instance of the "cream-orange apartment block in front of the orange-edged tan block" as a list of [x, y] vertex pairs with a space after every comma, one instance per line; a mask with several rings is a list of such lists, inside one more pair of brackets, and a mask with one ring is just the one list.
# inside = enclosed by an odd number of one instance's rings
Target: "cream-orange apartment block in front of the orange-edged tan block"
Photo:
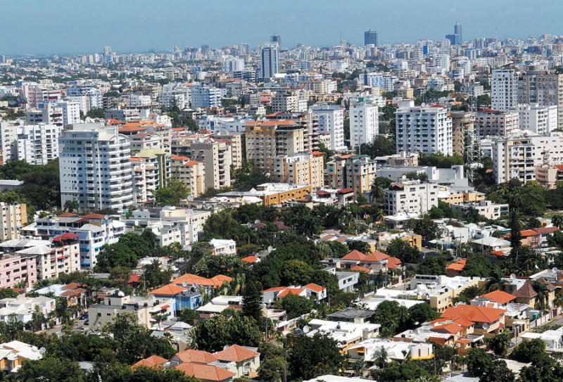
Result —
[[324, 186], [324, 157], [320, 151], [310, 154], [278, 155], [272, 158], [270, 179], [274, 183], [310, 184], [314, 189]]

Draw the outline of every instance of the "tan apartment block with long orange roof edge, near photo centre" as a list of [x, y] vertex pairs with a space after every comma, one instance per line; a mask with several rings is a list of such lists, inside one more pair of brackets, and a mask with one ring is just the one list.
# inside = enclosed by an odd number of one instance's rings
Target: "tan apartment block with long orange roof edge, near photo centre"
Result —
[[246, 159], [253, 160], [260, 170], [270, 170], [277, 155], [305, 151], [304, 142], [303, 127], [293, 120], [246, 123]]

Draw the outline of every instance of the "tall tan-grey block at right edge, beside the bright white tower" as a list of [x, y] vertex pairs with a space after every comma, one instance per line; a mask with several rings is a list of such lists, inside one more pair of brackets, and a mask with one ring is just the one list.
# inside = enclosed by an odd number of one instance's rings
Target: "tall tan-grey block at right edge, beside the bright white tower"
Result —
[[519, 78], [517, 98], [518, 103], [557, 106], [557, 126], [563, 129], [563, 75], [531, 68]]

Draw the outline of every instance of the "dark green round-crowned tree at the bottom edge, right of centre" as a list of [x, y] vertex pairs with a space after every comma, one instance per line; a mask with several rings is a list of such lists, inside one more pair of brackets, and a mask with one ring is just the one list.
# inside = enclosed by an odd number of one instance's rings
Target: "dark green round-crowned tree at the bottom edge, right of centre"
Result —
[[296, 380], [310, 379], [324, 374], [337, 374], [344, 367], [336, 340], [316, 333], [315, 336], [298, 336], [291, 348], [289, 370]]

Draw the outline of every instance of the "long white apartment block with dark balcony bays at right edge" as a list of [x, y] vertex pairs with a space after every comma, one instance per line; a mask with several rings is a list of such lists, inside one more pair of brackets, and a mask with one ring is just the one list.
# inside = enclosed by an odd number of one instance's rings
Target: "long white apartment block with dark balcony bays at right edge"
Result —
[[[493, 176], [497, 184], [519, 179], [526, 183], [536, 180], [536, 166], [563, 164], [563, 134], [550, 136], [511, 136], [484, 142], [493, 159]], [[487, 153], [488, 150], [483, 150]]]

